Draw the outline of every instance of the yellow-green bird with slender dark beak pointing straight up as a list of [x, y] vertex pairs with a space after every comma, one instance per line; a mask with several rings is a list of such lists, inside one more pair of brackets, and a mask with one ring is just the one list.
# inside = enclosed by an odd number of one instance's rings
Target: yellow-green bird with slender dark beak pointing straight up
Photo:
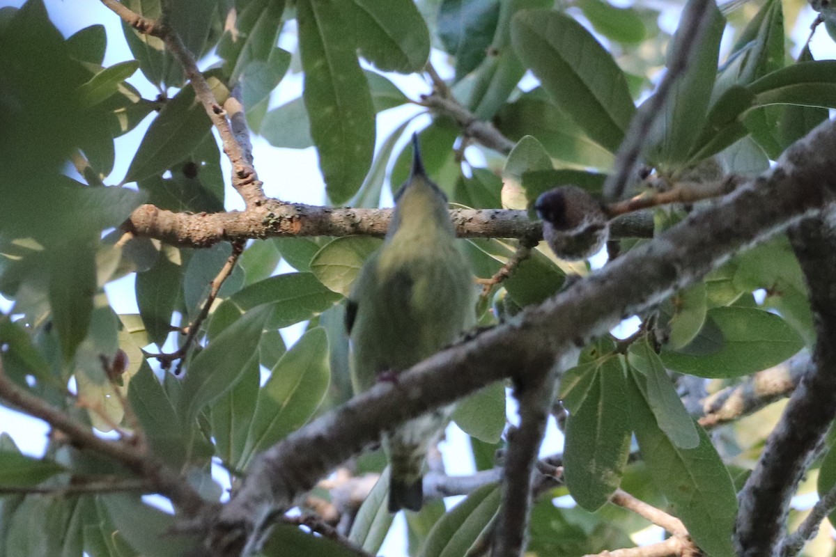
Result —
[[[365, 262], [349, 296], [354, 392], [375, 385], [448, 346], [475, 322], [475, 283], [456, 246], [447, 197], [427, 177], [412, 136], [409, 180], [395, 195], [383, 246]], [[390, 458], [389, 511], [420, 510], [426, 453], [453, 407], [440, 408], [385, 434]]]

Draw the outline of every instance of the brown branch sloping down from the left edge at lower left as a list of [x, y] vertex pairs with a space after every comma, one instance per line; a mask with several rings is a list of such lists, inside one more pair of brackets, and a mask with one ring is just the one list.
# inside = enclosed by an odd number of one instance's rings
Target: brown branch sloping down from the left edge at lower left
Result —
[[172, 503], [186, 516], [194, 516], [206, 508], [206, 502], [194, 489], [191, 489], [188, 483], [183, 481], [179, 474], [157, 462], [145, 451], [145, 443], [142, 442], [141, 437], [132, 438], [132, 441], [122, 439], [111, 441], [99, 438], [89, 426], [76, 422], [59, 408], [55, 408], [40, 397], [14, 384], [3, 372], [2, 359], [0, 359], [0, 398], [12, 407], [20, 408], [28, 415], [40, 418], [58, 429], [76, 447], [113, 458], [125, 468], [145, 478], [154, 489], [171, 499]]

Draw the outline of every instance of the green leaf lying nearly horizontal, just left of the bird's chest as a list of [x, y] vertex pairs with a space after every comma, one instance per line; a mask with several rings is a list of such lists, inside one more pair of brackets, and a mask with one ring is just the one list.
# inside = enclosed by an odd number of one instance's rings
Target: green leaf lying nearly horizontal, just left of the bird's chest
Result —
[[319, 315], [343, 296], [330, 291], [311, 273], [271, 276], [237, 291], [212, 314], [209, 336], [213, 337], [235, 322], [245, 311], [269, 304], [273, 313], [268, 328], [282, 328]]

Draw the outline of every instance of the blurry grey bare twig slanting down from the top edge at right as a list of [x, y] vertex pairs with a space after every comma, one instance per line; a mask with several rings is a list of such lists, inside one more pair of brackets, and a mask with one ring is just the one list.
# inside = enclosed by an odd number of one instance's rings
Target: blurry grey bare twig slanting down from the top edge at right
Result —
[[685, 73], [692, 58], [699, 52], [702, 38], [711, 23], [712, 9], [716, 9], [716, 5], [711, 0], [695, 0], [682, 13], [677, 31], [681, 35], [676, 39], [675, 56], [667, 64], [667, 73], [655, 93], [636, 111], [618, 153], [615, 154], [613, 172], [604, 183], [604, 200], [608, 203], [618, 201], [624, 195], [641, 150], [650, 136], [650, 127], [662, 112], [676, 78]]

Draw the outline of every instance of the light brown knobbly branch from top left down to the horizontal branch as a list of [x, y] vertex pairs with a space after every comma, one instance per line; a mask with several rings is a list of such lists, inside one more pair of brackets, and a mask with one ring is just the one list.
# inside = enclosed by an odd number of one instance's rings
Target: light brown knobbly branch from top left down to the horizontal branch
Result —
[[195, 96], [200, 100], [203, 108], [206, 109], [209, 119], [221, 136], [223, 152], [227, 154], [229, 162], [232, 163], [232, 187], [238, 192], [247, 204], [247, 208], [261, 205], [267, 198], [262, 190], [262, 182], [258, 180], [255, 168], [252, 166], [252, 154], [247, 157], [247, 150], [238, 144], [236, 134], [227, 120], [227, 112], [212, 94], [212, 89], [206, 83], [201, 70], [197, 68], [195, 57], [183, 44], [180, 36], [165, 22], [155, 22], [148, 18], [141, 17], [138, 13], [127, 8], [117, 0], [101, 0], [101, 2], [114, 11], [125, 23], [135, 28], [140, 33], [161, 38], [166, 43], [166, 48], [174, 58], [181, 63], [186, 77], [189, 78], [191, 87], [195, 89]]

